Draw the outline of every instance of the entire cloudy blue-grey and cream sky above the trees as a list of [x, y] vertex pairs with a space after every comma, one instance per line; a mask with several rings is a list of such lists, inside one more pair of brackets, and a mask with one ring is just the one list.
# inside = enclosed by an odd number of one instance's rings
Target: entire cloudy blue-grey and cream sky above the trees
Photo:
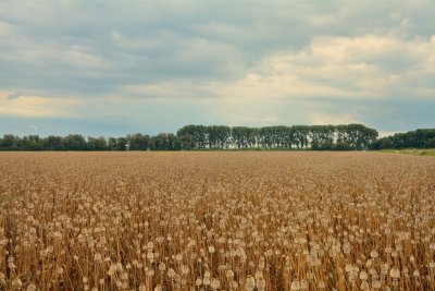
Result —
[[435, 128], [433, 0], [1, 0], [0, 134]]

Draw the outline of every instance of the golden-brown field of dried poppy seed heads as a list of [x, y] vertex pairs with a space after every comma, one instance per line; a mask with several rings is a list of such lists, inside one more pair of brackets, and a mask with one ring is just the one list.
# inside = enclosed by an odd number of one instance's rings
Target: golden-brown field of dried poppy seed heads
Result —
[[0, 153], [0, 290], [434, 286], [432, 157]]

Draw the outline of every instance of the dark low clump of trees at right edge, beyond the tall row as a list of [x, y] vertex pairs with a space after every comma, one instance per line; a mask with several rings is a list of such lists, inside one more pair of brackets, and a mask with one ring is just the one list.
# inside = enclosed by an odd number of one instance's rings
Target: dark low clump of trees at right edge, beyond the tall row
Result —
[[435, 148], [435, 129], [396, 133], [371, 144], [372, 149]]

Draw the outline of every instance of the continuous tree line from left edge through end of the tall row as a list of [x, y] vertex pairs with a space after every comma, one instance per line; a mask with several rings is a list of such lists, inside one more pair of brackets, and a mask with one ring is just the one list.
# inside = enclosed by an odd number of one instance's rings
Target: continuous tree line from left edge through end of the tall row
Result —
[[376, 141], [377, 131], [362, 124], [226, 126], [186, 125], [173, 133], [127, 134], [125, 137], [24, 137], [5, 134], [0, 150], [181, 150], [226, 148], [363, 149]]

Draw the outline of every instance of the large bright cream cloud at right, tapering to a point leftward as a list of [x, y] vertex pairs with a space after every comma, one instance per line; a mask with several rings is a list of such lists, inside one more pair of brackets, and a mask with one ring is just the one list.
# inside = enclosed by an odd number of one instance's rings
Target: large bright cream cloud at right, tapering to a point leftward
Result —
[[428, 98], [435, 84], [418, 82], [434, 76], [435, 36], [411, 41], [375, 35], [318, 37], [300, 50], [264, 57], [233, 82], [185, 80], [126, 86], [144, 96], [201, 95], [258, 99], [340, 97], [353, 99]]

